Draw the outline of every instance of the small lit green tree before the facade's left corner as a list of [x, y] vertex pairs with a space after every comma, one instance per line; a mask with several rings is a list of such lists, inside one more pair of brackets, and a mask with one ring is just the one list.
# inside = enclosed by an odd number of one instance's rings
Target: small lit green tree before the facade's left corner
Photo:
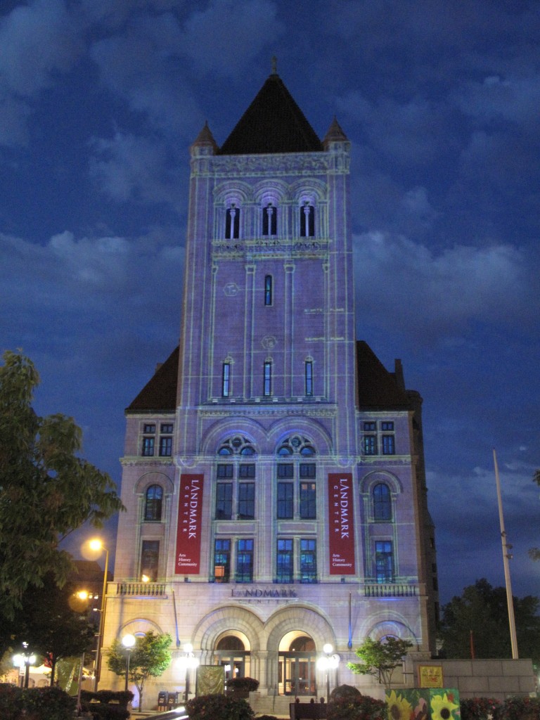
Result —
[[171, 642], [172, 638], [168, 633], [156, 635], [151, 630], [142, 637], [138, 637], [135, 647], [129, 651], [123, 647], [120, 640], [112, 642], [109, 657], [107, 657], [107, 667], [125, 678], [126, 653], [130, 652], [129, 679], [139, 691], [139, 710], [143, 707], [143, 689], [146, 680], [150, 678], [150, 675], [158, 678], [171, 665], [171, 653], [168, 649]]

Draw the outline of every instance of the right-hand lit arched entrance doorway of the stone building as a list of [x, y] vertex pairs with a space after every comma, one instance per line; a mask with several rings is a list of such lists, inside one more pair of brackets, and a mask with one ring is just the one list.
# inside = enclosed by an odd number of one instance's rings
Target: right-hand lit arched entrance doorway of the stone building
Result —
[[288, 632], [279, 643], [279, 695], [317, 696], [315, 642], [299, 630]]

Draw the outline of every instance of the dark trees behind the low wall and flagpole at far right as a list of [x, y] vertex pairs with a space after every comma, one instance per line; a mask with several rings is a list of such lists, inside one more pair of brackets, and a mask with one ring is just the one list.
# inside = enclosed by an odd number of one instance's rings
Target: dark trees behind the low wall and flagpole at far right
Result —
[[[539, 599], [513, 598], [518, 651], [535, 665], [540, 654]], [[442, 609], [439, 630], [441, 655], [449, 658], [512, 657], [508, 600], [505, 588], [493, 588], [485, 578], [464, 588]]]

